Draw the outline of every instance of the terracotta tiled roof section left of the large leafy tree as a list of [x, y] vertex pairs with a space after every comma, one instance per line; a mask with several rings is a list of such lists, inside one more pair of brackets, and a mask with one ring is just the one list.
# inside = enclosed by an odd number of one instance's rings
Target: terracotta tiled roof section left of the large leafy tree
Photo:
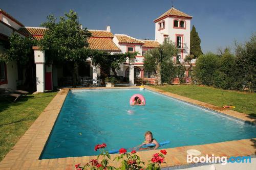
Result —
[[22, 27], [20, 29], [18, 29], [18, 31], [20, 33], [23, 33], [27, 36], [32, 36], [37, 40], [42, 39], [42, 37], [44, 36], [45, 32], [46, 32], [46, 28], [43, 27]]

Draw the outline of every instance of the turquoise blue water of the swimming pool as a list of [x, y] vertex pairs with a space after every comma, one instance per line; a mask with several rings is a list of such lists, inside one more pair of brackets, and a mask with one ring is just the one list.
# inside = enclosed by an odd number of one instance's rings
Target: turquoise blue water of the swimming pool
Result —
[[[130, 106], [140, 93], [146, 106]], [[97, 155], [94, 146], [107, 150], [132, 148], [152, 131], [162, 148], [256, 137], [255, 126], [168, 96], [139, 89], [70, 91], [41, 159]]]

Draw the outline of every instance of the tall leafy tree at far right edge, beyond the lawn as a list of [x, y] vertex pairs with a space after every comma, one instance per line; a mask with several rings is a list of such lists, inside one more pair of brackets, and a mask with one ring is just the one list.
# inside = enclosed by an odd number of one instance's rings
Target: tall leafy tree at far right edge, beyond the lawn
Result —
[[256, 90], [256, 33], [245, 44], [236, 44], [236, 87]]

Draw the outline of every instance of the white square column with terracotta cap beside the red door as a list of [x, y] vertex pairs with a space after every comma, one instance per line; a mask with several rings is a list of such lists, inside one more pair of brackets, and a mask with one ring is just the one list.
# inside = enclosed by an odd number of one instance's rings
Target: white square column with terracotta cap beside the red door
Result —
[[33, 46], [36, 64], [36, 92], [45, 91], [45, 51], [40, 51], [38, 46]]

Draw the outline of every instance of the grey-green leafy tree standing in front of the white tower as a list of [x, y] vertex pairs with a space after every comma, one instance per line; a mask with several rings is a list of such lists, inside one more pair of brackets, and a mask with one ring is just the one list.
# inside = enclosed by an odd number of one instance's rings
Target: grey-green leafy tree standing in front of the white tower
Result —
[[[164, 82], [170, 82], [173, 74], [172, 59], [177, 55], [178, 51], [175, 43], [166, 39], [159, 48], [154, 48], [145, 54], [144, 67], [145, 71], [155, 71], [157, 74], [157, 82], [161, 84], [161, 54], [162, 51], [162, 76]], [[168, 77], [169, 75], [169, 77]]]

